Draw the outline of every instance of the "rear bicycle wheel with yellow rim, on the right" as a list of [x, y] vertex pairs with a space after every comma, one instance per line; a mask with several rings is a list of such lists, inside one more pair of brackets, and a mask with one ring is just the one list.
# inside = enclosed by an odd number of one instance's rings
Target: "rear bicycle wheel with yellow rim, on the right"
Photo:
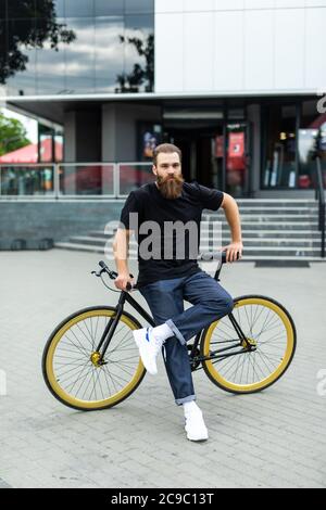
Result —
[[259, 295], [236, 298], [233, 315], [249, 348], [225, 316], [203, 332], [201, 355], [215, 356], [203, 361], [203, 369], [214, 384], [227, 392], [260, 392], [274, 384], [293, 358], [293, 320], [279, 303]]

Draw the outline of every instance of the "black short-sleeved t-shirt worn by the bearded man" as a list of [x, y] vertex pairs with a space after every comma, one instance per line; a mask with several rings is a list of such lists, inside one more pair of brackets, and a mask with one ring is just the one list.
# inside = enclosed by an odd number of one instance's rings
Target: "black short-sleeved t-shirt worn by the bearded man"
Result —
[[[222, 201], [222, 191], [198, 182], [184, 182], [181, 195], [174, 200], [165, 199], [154, 182], [129, 193], [120, 220], [135, 231], [138, 242], [137, 286], [200, 271], [197, 256], [202, 211], [217, 211]], [[133, 222], [136, 218], [138, 222]]]

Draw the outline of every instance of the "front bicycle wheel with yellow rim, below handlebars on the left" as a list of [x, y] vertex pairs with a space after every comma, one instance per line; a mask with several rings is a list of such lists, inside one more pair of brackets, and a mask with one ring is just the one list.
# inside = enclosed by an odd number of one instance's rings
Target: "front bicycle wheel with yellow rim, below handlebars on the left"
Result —
[[96, 348], [115, 308], [91, 307], [65, 319], [48, 340], [42, 372], [47, 386], [62, 404], [80, 410], [105, 409], [127, 398], [146, 373], [133, 339], [140, 323], [123, 313], [99, 362]]

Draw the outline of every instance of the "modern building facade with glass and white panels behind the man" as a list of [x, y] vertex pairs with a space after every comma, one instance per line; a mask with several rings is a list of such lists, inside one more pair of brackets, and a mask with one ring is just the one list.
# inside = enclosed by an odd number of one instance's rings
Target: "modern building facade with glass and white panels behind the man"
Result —
[[166, 141], [187, 180], [312, 197], [325, 26], [326, 0], [1, 0], [1, 97], [63, 137], [62, 193], [105, 194], [96, 163], [125, 163], [120, 187], [137, 187]]

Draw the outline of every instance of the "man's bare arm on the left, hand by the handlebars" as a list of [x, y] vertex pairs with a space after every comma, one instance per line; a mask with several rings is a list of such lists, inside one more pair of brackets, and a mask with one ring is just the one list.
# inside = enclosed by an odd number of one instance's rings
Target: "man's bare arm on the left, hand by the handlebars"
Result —
[[117, 229], [113, 241], [113, 254], [117, 270], [117, 278], [114, 280], [116, 289], [125, 291], [127, 283], [135, 283], [129, 276], [128, 251], [131, 230]]

